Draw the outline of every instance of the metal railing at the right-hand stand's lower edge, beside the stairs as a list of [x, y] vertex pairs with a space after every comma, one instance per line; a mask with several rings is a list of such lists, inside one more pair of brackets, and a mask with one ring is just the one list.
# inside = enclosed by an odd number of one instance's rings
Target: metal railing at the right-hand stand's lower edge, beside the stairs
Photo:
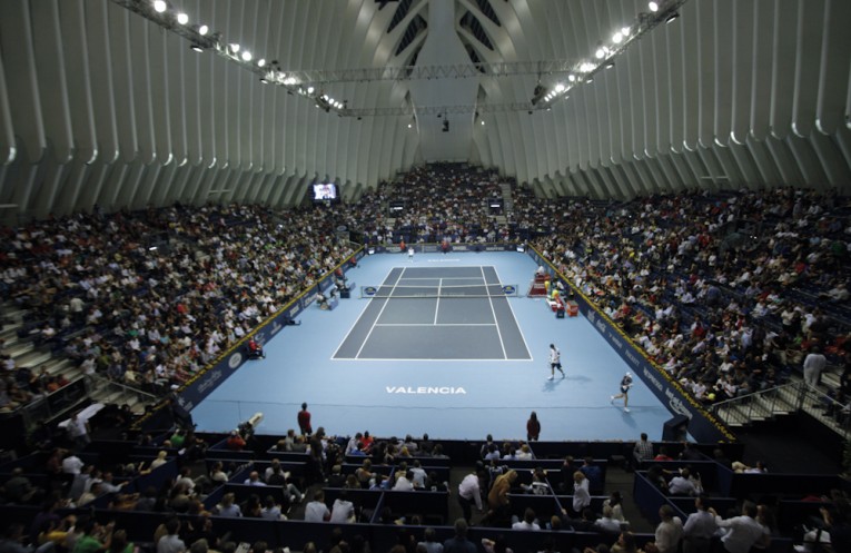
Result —
[[837, 402], [802, 381], [719, 402], [709, 411], [731, 426], [804, 412], [843, 438], [851, 438], [851, 403]]

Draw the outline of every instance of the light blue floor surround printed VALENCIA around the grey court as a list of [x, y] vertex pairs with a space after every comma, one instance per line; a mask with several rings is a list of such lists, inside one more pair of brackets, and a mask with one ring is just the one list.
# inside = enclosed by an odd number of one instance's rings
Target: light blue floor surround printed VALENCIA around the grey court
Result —
[[[377, 254], [348, 278], [378, 286], [396, 275], [408, 285], [457, 275], [475, 284], [467, 273], [478, 271], [478, 282], [518, 284], [525, 293], [535, 269], [514, 251], [418, 254], [413, 261]], [[314, 428], [329, 434], [446, 440], [524, 438], [532, 411], [542, 440], [632, 441], [642, 432], [659, 440], [671, 416], [637, 378], [631, 412], [612, 405], [629, 367], [585, 317], [556, 318], [543, 299], [355, 296], [333, 310], [308, 306], [301, 325], [266, 345], [265, 359], [244, 365], [194, 408], [198, 429], [228, 431], [260, 412], [258, 433], [284, 434], [298, 427], [301, 402]], [[551, 343], [562, 350], [564, 378], [548, 379]]]

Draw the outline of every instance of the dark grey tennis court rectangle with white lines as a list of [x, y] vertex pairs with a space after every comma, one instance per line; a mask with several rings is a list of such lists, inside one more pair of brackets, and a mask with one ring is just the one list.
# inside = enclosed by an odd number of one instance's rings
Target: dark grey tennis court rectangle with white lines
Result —
[[365, 289], [368, 305], [335, 359], [532, 358], [508, 298], [516, 286], [492, 266], [395, 267]]

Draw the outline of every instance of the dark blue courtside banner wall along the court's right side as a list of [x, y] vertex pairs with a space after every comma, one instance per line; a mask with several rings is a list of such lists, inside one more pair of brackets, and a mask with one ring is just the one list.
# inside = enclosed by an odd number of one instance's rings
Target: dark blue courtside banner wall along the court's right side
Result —
[[608, 317], [597, 309], [587, 297], [561, 275], [555, 267], [544, 259], [534, 248], [527, 249], [535, 263], [554, 278], [561, 278], [575, 293], [580, 313], [588, 319], [596, 330], [617, 352], [633, 374], [637, 375], [672, 415], [685, 415], [689, 418], [689, 433], [703, 444], [735, 442], [735, 436], [721, 421], [703, 408], [691, 394], [685, 392], [664, 369], [656, 366], [633, 340], [614, 325]]

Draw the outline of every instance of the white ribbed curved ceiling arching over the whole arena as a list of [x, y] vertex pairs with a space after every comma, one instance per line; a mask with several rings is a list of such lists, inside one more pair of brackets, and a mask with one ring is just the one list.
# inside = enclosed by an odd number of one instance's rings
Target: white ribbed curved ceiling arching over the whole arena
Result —
[[[0, 217], [96, 204], [288, 206], [306, 184], [326, 179], [356, 198], [433, 160], [495, 167], [546, 196], [851, 191], [851, 2], [659, 3], [682, 4], [681, 17], [634, 40], [614, 67], [550, 110], [488, 107], [527, 105], [538, 83], [552, 89], [564, 71], [325, 82], [321, 92], [348, 109], [375, 111], [349, 117], [264, 85], [209, 49], [196, 53], [174, 26], [122, 6], [150, 10], [152, 0], [3, 0]], [[649, 11], [642, 0], [169, 0], [166, 8], [283, 71], [593, 60]], [[448, 109], [458, 106], [468, 109]], [[399, 107], [416, 115], [382, 115]]]

